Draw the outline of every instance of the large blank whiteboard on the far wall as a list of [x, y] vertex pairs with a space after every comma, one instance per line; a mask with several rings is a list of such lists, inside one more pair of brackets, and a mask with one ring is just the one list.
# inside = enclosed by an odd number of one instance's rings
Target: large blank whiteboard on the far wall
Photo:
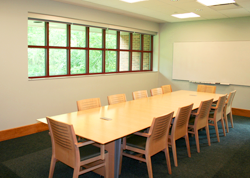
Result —
[[172, 78], [250, 86], [250, 41], [174, 43]]

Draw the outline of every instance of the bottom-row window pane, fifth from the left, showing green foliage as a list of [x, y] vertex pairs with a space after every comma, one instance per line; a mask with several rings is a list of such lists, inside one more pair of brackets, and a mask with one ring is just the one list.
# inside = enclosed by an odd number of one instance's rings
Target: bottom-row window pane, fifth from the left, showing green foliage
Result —
[[116, 72], [117, 66], [117, 52], [116, 51], [106, 51], [105, 59], [105, 72]]

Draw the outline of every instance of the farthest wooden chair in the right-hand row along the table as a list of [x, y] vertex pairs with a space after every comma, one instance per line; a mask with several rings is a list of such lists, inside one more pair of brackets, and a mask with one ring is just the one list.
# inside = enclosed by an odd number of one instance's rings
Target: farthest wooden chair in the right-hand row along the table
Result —
[[227, 132], [229, 132], [228, 121], [227, 121], [227, 115], [228, 114], [229, 114], [230, 121], [231, 121], [231, 127], [232, 128], [234, 127], [234, 125], [233, 125], [233, 115], [232, 115], [232, 104], [233, 104], [233, 99], [234, 99], [235, 94], [236, 94], [236, 90], [229, 93], [229, 95], [227, 97], [225, 107], [224, 107], [224, 118], [225, 118]]

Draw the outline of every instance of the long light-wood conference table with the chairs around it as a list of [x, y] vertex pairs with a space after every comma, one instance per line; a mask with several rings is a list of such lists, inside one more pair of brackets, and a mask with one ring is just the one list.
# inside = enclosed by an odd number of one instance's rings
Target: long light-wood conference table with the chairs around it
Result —
[[[109, 152], [109, 177], [117, 178], [122, 137], [150, 127], [154, 117], [172, 111], [175, 117], [179, 107], [193, 103], [193, 109], [196, 109], [201, 101], [211, 98], [216, 101], [220, 96], [222, 94], [179, 90], [100, 108], [50, 116], [50, 118], [72, 124], [76, 135], [80, 137], [105, 144], [105, 149]], [[46, 118], [38, 121], [47, 123]], [[103, 168], [95, 172], [103, 175]]]

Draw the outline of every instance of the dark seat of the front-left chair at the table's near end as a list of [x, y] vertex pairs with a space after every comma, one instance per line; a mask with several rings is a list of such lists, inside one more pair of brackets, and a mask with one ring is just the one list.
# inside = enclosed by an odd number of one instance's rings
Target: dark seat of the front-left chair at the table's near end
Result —
[[[80, 151], [80, 160], [84, 161], [90, 158], [94, 158], [96, 156], [100, 155], [100, 148], [96, 147], [94, 145], [86, 145], [84, 147], [80, 147], [79, 148]], [[107, 151], [105, 150], [105, 153], [107, 153]]]

